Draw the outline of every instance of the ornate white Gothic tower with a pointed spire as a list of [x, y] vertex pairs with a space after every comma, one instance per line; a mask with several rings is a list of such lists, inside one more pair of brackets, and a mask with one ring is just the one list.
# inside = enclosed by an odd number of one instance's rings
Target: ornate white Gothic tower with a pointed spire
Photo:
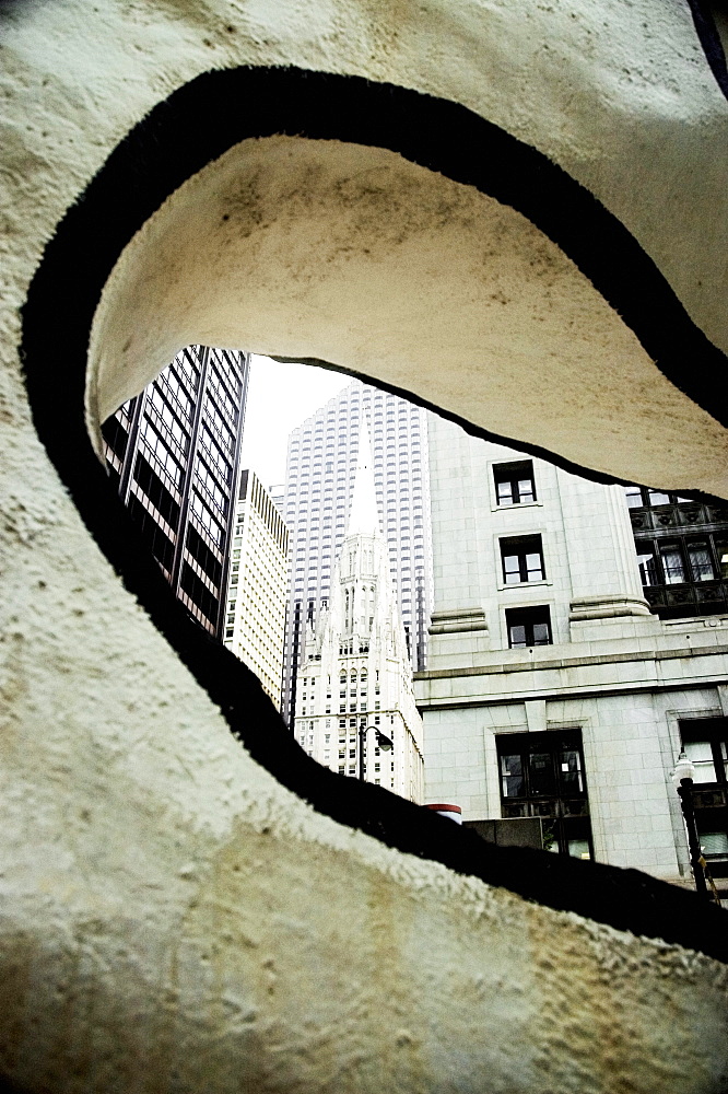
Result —
[[347, 535], [326, 607], [306, 626], [296, 695], [298, 743], [340, 775], [421, 802], [422, 719], [379, 528], [366, 426]]

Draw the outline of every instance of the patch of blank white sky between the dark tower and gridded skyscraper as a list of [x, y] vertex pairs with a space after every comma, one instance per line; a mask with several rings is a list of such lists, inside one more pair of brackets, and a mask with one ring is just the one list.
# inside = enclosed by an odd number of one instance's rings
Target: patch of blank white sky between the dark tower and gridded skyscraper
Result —
[[350, 383], [350, 376], [328, 369], [279, 364], [254, 356], [240, 467], [251, 468], [266, 489], [282, 482], [291, 430]]

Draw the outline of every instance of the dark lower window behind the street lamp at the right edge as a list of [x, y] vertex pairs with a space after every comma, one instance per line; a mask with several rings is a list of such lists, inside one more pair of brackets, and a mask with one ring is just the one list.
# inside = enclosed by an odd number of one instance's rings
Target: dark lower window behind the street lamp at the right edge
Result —
[[695, 765], [693, 805], [703, 854], [715, 877], [728, 876], [728, 719], [680, 722], [682, 747]]

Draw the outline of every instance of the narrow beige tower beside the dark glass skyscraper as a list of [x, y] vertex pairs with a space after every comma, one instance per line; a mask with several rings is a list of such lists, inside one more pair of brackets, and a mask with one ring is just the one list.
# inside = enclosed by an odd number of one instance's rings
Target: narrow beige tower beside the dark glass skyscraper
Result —
[[240, 473], [224, 645], [253, 670], [281, 708], [289, 590], [289, 529], [250, 470]]

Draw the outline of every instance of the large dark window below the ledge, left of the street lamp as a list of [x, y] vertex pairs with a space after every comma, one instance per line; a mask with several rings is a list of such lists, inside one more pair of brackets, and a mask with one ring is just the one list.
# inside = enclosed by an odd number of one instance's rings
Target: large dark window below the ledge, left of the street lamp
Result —
[[580, 730], [496, 736], [504, 817], [541, 817], [545, 850], [592, 858]]

